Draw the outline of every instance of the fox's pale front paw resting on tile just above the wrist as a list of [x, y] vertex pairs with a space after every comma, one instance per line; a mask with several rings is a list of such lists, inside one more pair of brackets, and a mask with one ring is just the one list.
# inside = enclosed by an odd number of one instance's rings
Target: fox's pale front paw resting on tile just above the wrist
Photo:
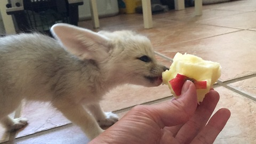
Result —
[[118, 116], [112, 112], [105, 112], [106, 117], [103, 119], [98, 119], [98, 124], [105, 130], [109, 126], [115, 124], [118, 121]]

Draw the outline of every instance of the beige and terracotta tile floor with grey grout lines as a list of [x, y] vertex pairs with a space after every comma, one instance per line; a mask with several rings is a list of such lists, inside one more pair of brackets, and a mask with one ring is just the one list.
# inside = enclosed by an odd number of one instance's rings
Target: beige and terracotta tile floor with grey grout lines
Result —
[[[144, 29], [141, 14], [123, 14], [79, 26], [98, 30], [129, 29], [147, 35], [156, 57], [171, 65], [175, 53], [190, 53], [219, 62], [222, 75], [215, 86], [220, 95], [217, 109], [226, 107], [231, 117], [214, 143], [256, 143], [256, 1], [244, 0], [204, 5], [195, 17], [194, 7], [153, 15], [154, 28]], [[102, 107], [122, 116], [138, 104], [152, 105], [170, 100], [166, 85], [146, 88], [125, 85], [106, 95]], [[0, 143], [87, 143], [82, 131], [49, 103], [23, 102], [12, 116], [27, 117], [29, 125], [16, 133], [0, 127]]]

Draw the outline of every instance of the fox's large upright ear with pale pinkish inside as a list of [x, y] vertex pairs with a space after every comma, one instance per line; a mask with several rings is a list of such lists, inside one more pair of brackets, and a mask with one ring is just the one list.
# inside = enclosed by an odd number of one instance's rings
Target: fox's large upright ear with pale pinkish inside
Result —
[[51, 33], [68, 52], [79, 59], [102, 61], [109, 55], [110, 39], [91, 30], [57, 23], [52, 26]]

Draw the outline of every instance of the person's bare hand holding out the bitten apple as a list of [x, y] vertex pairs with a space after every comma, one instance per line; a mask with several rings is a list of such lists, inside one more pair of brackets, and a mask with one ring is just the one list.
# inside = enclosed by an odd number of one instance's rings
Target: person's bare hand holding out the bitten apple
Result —
[[197, 105], [195, 85], [187, 81], [179, 97], [157, 105], [135, 106], [90, 144], [213, 143], [230, 117], [226, 108], [211, 117], [219, 101], [218, 92], [211, 90]]

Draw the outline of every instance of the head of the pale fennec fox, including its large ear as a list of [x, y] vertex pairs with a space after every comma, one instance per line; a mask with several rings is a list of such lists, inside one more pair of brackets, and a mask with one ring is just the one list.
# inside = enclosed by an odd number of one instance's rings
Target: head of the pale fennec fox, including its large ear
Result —
[[66, 51], [99, 67], [102, 81], [147, 87], [162, 84], [167, 68], [157, 62], [149, 39], [132, 31], [99, 31], [58, 23], [53, 36]]

